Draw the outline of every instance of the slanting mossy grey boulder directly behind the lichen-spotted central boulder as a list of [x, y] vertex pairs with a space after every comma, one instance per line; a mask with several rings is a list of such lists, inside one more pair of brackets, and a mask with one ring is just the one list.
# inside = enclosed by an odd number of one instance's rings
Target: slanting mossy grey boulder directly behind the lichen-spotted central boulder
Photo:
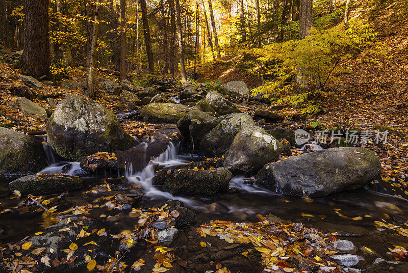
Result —
[[208, 157], [221, 156], [230, 148], [241, 128], [253, 124], [251, 116], [247, 114], [233, 113], [224, 116], [222, 121], [202, 138], [200, 153]]

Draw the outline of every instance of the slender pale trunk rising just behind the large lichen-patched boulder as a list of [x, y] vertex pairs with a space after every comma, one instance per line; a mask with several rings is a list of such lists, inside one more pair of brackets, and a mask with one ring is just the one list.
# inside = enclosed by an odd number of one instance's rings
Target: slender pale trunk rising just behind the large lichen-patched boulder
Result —
[[95, 12], [93, 16], [93, 31], [92, 31], [92, 41], [91, 41], [91, 46], [89, 48], [90, 50], [90, 60], [89, 60], [89, 70], [88, 70], [88, 81], [87, 81], [87, 89], [84, 92], [84, 95], [89, 97], [89, 98], [94, 98], [95, 97], [95, 90], [96, 90], [96, 48], [98, 46], [98, 29], [99, 29], [99, 24], [96, 23], [96, 21], [99, 19], [99, 0], [96, 0], [95, 2]]

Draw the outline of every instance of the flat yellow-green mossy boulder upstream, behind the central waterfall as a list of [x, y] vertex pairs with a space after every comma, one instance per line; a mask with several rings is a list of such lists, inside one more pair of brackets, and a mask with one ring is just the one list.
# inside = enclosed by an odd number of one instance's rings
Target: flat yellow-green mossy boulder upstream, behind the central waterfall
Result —
[[149, 103], [140, 117], [144, 121], [176, 123], [190, 111], [190, 107], [175, 103]]

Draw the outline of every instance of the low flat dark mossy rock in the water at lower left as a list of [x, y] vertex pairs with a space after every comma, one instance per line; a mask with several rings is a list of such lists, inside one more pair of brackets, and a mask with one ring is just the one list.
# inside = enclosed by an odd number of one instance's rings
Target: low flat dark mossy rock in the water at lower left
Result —
[[9, 190], [18, 190], [21, 195], [44, 195], [84, 187], [80, 177], [68, 175], [28, 175], [9, 183]]

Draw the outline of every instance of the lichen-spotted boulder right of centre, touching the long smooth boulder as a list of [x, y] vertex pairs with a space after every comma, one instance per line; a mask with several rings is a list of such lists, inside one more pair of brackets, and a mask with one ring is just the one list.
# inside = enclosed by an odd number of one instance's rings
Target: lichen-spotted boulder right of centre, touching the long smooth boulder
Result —
[[235, 135], [224, 155], [223, 166], [236, 172], [257, 172], [278, 157], [282, 150], [282, 143], [263, 128], [246, 125]]

